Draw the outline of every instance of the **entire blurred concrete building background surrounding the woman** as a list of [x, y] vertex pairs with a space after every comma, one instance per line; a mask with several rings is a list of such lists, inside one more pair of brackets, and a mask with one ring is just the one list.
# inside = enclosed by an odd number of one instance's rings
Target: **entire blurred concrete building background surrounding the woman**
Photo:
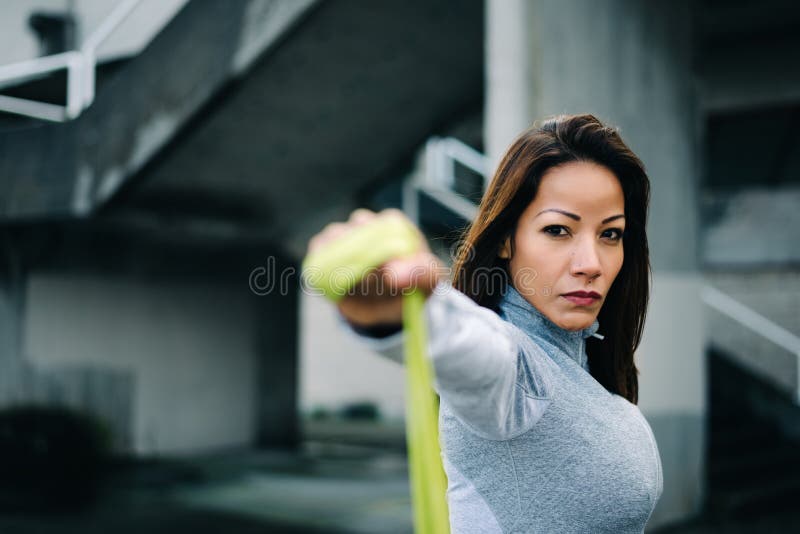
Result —
[[[0, 531], [410, 532], [403, 370], [298, 278], [399, 207], [445, 259], [535, 119], [652, 181], [652, 532], [800, 529], [800, 6], [4, 0]], [[794, 507], [794, 509], [793, 509]]]

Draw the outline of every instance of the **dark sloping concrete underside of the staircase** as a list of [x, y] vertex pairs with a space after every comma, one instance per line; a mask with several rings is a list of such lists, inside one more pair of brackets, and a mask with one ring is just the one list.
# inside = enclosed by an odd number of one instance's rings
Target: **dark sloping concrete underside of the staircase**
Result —
[[397, 178], [430, 134], [480, 109], [483, 45], [480, 0], [320, 2], [104, 214], [207, 221], [299, 257], [360, 191]]

